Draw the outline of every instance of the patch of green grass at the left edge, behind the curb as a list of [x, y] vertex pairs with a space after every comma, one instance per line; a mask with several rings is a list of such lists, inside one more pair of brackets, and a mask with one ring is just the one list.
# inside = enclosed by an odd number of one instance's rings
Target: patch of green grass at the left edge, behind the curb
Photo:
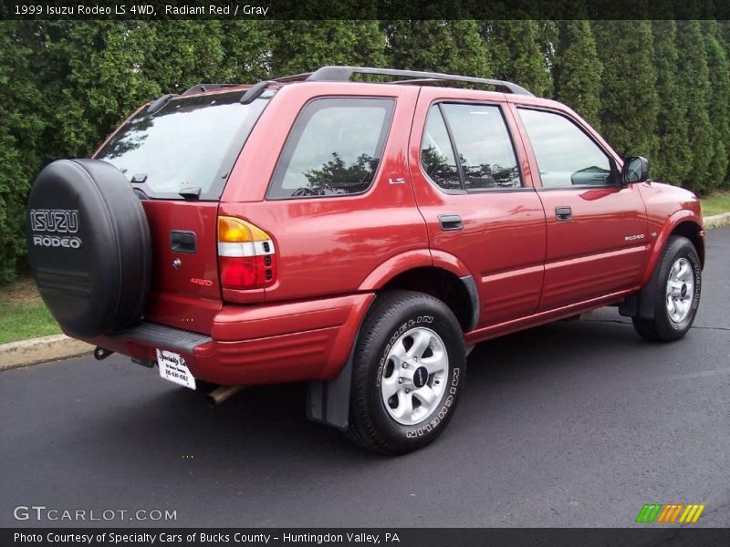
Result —
[[32, 281], [26, 279], [3, 288], [0, 293], [0, 344], [60, 332]]

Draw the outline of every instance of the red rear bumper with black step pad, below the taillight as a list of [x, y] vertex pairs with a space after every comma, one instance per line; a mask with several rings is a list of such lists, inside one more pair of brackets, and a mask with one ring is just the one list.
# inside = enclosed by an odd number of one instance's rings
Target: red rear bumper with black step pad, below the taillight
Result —
[[120, 335], [86, 338], [136, 359], [155, 349], [181, 354], [193, 376], [221, 385], [275, 384], [336, 377], [374, 294], [286, 304], [225, 305], [211, 335], [145, 323]]

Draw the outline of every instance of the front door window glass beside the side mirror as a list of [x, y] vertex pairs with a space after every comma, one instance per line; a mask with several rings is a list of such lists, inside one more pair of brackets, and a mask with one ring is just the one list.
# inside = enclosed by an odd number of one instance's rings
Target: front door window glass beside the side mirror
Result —
[[553, 112], [518, 108], [545, 188], [614, 183], [611, 160], [572, 121]]

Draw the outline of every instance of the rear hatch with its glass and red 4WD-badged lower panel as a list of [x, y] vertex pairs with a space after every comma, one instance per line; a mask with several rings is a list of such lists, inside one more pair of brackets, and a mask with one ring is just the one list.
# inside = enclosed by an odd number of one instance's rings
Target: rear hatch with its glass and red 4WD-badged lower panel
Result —
[[210, 334], [221, 309], [218, 201], [273, 94], [241, 104], [244, 92], [172, 97], [157, 110], [153, 103], [95, 155], [126, 175], [147, 213], [153, 256], [148, 321]]

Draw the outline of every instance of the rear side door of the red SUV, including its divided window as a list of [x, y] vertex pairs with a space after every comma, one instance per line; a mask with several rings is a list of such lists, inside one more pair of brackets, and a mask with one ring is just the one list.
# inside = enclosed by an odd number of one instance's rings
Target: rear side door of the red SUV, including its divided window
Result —
[[[443, 89], [422, 88], [410, 169], [432, 250], [453, 255], [474, 276], [479, 328], [537, 309], [545, 216], [510, 136], [504, 96], [449, 93], [445, 98]], [[474, 100], [480, 96], [484, 100]]]

